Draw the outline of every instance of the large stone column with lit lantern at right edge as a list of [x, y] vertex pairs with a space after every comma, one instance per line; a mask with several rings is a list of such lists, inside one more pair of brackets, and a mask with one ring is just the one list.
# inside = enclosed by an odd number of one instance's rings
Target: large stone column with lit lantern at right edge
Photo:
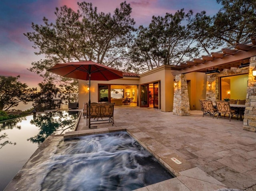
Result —
[[252, 76], [254, 67], [256, 67], [256, 56], [250, 58], [243, 129], [256, 132], [256, 80]]

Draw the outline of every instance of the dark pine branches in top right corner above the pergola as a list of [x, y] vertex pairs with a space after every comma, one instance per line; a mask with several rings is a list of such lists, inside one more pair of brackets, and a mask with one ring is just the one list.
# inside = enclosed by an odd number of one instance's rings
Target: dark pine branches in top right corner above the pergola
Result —
[[233, 46], [256, 35], [256, 0], [217, 0], [222, 4], [218, 13], [210, 18], [206, 12], [196, 15], [194, 38], [206, 53], [220, 46]]

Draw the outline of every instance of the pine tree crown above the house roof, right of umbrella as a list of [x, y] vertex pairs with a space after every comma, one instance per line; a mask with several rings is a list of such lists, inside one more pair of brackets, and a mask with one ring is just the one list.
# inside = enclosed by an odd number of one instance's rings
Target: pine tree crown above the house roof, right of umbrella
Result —
[[[164, 17], [152, 17], [147, 28], [140, 26], [132, 46], [132, 59], [140, 71], [147, 71], [160, 65], [178, 65], [188, 57], [197, 55], [191, 36], [190, 10], [184, 9], [174, 15], [166, 13]], [[186, 24], [184, 24], [186, 22]]]

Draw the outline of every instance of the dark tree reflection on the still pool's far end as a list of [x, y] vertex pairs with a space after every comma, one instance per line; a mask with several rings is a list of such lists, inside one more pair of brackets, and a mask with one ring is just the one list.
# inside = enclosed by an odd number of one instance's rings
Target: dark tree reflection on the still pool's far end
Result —
[[30, 121], [39, 127], [36, 136], [29, 138], [33, 143], [41, 144], [49, 135], [64, 134], [66, 131], [74, 130], [78, 112], [74, 111], [56, 111], [36, 114], [36, 118]]

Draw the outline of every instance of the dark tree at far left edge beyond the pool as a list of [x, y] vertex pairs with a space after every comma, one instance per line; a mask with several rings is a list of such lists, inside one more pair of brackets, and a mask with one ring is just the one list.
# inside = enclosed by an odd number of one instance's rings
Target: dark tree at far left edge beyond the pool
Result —
[[20, 102], [27, 104], [36, 92], [36, 88], [28, 88], [28, 85], [17, 81], [17, 77], [0, 76], [0, 110], [8, 110], [18, 106]]

